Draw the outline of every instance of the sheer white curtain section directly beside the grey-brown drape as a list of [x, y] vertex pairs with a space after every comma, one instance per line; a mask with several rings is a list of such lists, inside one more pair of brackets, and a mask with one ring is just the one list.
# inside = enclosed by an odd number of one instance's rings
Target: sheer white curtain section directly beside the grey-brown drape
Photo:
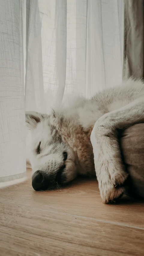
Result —
[[88, 1], [86, 96], [122, 82], [123, 0]]

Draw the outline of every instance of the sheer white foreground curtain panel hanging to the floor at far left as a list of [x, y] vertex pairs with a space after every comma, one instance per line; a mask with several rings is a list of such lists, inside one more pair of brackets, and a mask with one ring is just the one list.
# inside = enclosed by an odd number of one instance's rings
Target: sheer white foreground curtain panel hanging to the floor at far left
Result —
[[26, 175], [23, 4], [0, 2], [0, 182]]

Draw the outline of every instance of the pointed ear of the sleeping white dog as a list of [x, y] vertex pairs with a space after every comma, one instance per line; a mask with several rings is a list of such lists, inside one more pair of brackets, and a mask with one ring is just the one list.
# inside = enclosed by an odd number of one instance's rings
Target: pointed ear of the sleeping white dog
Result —
[[43, 119], [43, 115], [37, 112], [26, 112], [26, 125], [27, 127], [32, 130], [37, 127], [37, 124], [41, 122], [41, 119]]

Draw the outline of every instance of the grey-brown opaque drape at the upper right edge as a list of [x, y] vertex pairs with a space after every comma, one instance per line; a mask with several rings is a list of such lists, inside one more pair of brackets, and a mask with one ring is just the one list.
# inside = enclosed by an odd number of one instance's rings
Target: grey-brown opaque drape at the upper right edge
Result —
[[144, 77], [144, 2], [124, 0], [123, 79]]

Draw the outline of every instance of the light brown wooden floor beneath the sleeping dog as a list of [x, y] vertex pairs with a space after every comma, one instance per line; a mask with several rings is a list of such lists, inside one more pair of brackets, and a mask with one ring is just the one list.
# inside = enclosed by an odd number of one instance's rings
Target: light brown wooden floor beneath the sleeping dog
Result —
[[29, 178], [0, 190], [0, 255], [144, 255], [144, 203], [105, 205], [96, 180], [36, 192]]

